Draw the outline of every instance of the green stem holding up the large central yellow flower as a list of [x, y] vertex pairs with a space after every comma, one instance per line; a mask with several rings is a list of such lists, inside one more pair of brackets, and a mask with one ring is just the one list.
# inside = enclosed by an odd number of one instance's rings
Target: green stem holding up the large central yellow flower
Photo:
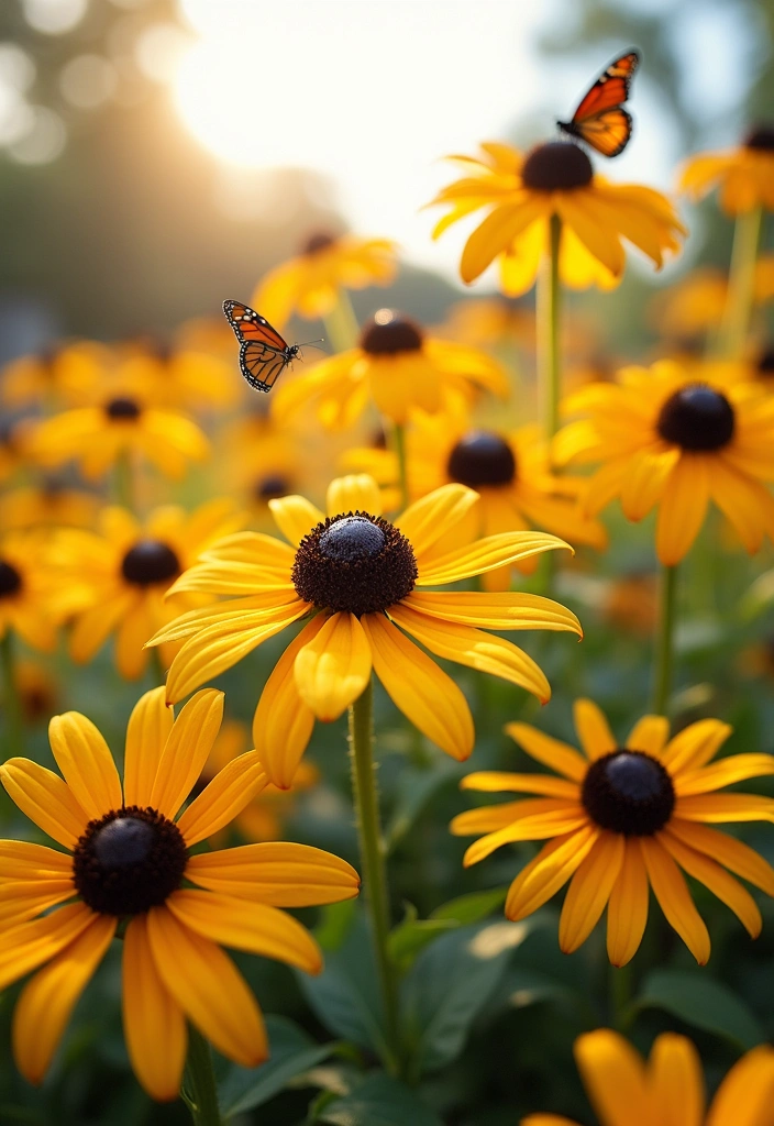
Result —
[[352, 796], [358, 819], [360, 865], [366, 892], [366, 908], [371, 926], [371, 941], [377, 976], [385, 1011], [382, 1063], [392, 1073], [398, 1072], [398, 1012], [395, 976], [387, 950], [389, 936], [389, 897], [385, 848], [379, 824], [379, 794], [374, 762], [374, 688], [369, 682], [362, 695], [350, 705], [350, 761]]

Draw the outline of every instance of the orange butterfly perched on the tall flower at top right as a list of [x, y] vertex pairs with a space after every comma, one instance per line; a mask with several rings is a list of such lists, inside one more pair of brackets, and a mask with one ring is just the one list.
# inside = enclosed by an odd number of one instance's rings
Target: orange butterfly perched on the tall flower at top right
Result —
[[628, 51], [611, 63], [583, 98], [573, 119], [557, 122], [559, 128], [585, 141], [603, 157], [622, 153], [631, 136], [631, 115], [623, 102], [639, 62], [639, 52]]

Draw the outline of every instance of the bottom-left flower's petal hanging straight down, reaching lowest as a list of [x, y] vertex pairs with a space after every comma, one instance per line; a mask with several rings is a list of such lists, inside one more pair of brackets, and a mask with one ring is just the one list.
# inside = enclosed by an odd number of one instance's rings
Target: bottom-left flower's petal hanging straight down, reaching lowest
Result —
[[188, 1035], [182, 1009], [164, 988], [147, 937], [147, 917], [135, 915], [124, 936], [124, 1036], [134, 1072], [153, 1099], [180, 1092]]

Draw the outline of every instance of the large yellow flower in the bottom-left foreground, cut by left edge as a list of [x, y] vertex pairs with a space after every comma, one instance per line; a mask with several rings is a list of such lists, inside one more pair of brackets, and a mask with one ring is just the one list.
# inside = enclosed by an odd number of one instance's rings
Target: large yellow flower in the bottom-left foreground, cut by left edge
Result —
[[278, 909], [357, 895], [349, 864], [304, 844], [190, 852], [266, 785], [255, 751], [234, 759], [176, 821], [222, 715], [223, 692], [212, 688], [177, 720], [163, 688], [146, 692], [129, 718], [123, 787], [102, 735], [78, 712], [50, 726], [64, 780], [28, 759], [0, 767], [14, 802], [68, 850], [0, 841], [0, 989], [37, 971], [12, 1025], [14, 1056], [29, 1082], [43, 1080], [122, 921], [126, 1044], [156, 1099], [180, 1088], [186, 1020], [245, 1067], [268, 1055], [260, 1009], [222, 946], [322, 968], [315, 940]]

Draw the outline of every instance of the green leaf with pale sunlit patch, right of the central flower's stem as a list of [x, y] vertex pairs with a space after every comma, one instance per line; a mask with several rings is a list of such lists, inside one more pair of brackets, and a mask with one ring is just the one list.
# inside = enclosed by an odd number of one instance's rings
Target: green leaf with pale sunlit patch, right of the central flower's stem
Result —
[[443, 1067], [460, 1054], [512, 951], [533, 926], [528, 920], [464, 927], [422, 951], [403, 991], [414, 1074]]

